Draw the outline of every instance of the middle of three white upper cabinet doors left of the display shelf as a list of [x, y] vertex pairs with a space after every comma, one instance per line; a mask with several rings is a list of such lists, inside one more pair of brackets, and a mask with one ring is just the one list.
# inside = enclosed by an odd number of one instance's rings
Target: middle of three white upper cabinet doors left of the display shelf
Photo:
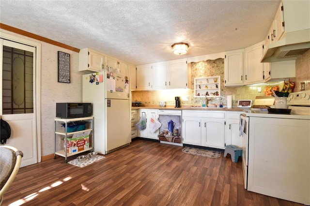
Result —
[[167, 88], [167, 62], [152, 64], [152, 89]]

